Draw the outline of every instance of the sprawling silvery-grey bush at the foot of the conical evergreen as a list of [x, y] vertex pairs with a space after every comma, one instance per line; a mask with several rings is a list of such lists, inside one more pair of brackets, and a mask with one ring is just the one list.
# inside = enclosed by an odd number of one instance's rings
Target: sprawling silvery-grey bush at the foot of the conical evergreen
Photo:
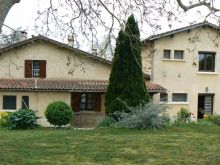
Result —
[[118, 122], [122, 127], [130, 129], [160, 128], [167, 122], [163, 115], [166, 107], [164, 105], [149, 102], [145, 105], [131, 107], [130, 112], [119, 112]]

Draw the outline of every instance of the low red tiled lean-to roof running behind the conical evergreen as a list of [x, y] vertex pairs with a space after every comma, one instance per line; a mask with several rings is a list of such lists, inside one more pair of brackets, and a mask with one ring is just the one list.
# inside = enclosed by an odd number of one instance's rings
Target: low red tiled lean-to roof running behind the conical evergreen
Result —
[[[106, 92], [105, 80], [0, 79], [0, 90]], [[165, 92], [158, 84], [146, 81], [149, 92]]]

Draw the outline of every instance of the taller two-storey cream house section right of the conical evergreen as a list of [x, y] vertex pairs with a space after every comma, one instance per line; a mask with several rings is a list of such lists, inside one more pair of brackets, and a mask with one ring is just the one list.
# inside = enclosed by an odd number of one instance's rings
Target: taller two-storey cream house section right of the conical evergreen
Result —
[[185, 107], [196, 118], [220, 114], [220, 33], [208, 22], [198, 23], [142, 41], [143, 70], [167, 89], [154, 95], [170, 114]]

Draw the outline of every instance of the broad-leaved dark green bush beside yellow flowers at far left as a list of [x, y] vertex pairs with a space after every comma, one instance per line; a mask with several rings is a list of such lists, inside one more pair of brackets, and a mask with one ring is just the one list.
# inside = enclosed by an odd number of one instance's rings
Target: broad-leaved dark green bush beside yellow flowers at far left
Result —
[[38, 117], [30, 109], [20, 109], [8, 115], [9, 129], [33, 129], [36, 128]]

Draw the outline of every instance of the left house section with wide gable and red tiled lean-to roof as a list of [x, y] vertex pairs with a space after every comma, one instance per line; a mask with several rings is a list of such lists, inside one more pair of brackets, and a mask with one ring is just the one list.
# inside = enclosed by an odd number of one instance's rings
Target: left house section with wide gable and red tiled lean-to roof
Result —
[[[71, 38], [70, 38], [71, 39]], [[73, 126], [93, 127], [105, 116], [105, 97], [111, 61], [43, 36], [0, 49], [0, 112], [30, 108], [49, 126], [44, 112], [62, 100], [74, 110]], [[165, 88], [149, 81], [153, 96]]]

